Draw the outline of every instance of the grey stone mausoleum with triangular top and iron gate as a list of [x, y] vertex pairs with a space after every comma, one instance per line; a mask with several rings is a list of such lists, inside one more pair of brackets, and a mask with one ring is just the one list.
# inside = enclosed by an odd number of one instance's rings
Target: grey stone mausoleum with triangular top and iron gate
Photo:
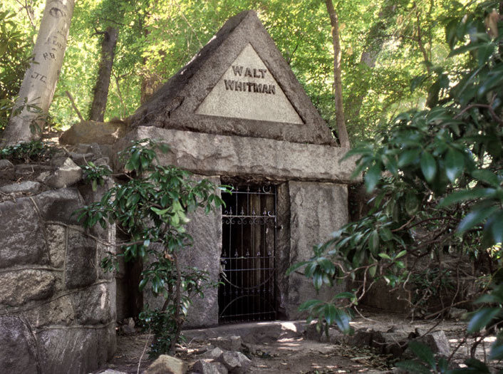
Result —
[[353, 162], [340, 162], [347, 150], [254, 11], [229, 19], [130, 125], [116, 149], [160, 139], [171, 147], [165, 165], [234, 187], [222, 212], [197, 213], [189, 224], [195, 244], [185, 261], [222, 285], [195, 299], [188, 325], [299, 318], [314, 289], [286, 269], [348, 221]]

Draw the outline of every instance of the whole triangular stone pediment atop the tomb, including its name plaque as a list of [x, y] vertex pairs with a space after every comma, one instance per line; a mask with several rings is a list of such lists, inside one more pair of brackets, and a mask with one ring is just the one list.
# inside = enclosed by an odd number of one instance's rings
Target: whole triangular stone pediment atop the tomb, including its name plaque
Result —
[[335, 145], [254, 11], [229, 19], [130, 123]]

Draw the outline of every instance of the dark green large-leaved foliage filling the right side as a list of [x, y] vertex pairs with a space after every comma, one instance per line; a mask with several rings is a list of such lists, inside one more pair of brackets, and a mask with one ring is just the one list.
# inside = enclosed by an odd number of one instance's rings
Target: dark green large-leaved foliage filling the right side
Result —
[[[483, 5], [490, 9], [491, 4]], [[411, 274], [415, 262], [410, 261], [425, 256], [440, 258], [442, 254], [468, 255], [476, 260], [486, 252], [501, 269], [502, 37], [487, 36], [483, 15], [484, 9], [477, 7], [462, 19], [449, 21], [450, 56], [463, 58], [465, 64], [461, 68], [453, 64], [452, 70], [432, 66], [435, 77], [427, 89], [430, 108], [401, 113], [375, 142], [355, 147], [346, 155], [357, 157], [353, 176], [363, 172], [367, 191], [374, 192], [369, 202], [372, 208], [365, 217], [346, 224], [332, 239], [316, 246], [309, 261], [295, 266], [305, 266], [304, 274], [317, 288], [330, 286], [334, 280], [358, 279], [361, 286], [351, 300], [356, 304], [374, 281], [383, 279], [396, 287], [422, 277], [430, 292], [438, 294], [442, 287], [449, 287], [448, 280], [434, 281], [448, 274], [442, 262], [437, 274], [425, 276]], [[420, 76], [411, 88], [426, 81]], [[325, 264], [327, 260], [333, 266]], [[489, 305], [474, 313], [468, 333], [480, 333], [499, 321], [503, 315], [502, 284], [495, 276], [494, 290], [479, 300]], [[303, 308], [318, 321], [333, 311], [328, 303], [315, 310], [318, 305], [321, 303], [310, 301]], [[340, 308], [336, 303], [333, 306]], [[490, 358], [503, 356], [502, 341], [499, 337]], [[411, 343], [410, 349], [419, 360], [400, 367], [413, 373], [488, 373], [486, 364], [474, 359], [467, 361], [467, 370], [450, 371], [447, 360], [436, 361], [420, 343]]]

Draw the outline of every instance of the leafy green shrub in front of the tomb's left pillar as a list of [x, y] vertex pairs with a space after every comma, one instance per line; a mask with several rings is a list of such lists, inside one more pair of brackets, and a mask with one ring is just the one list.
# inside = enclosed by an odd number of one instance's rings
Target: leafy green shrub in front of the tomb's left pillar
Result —
[[[217, 188], [208, 180], [197, 182], [189, 172], [156, 163], [157, 150], [167, 150], [154, 140], [133, 142], [121, 152], [130, 180], [105, 192], [100, 202], [79, 209], [79, 221], [84, 227], [116, 223], [130, 240], [123, 244], [123, 253], [110, 253], [101, 265], [113, 270], [116, 257], [125, 261], [144, 260], [140, 290], [150, 285], [154, 296], [163, 296], [160, 310], [146, 309], [142, 321], [154, 333], [151, 355], [172, 351], [190, 306], [191, 296], [203, 296], [209, 285], [207, 274], [180, 264], [178, 254], [192, 244], [185, 231], [187, 214], [202, 207], [206, 212], [223, 204], [214, 193]], [[85, 174], [93, 187], [102, 184], [109, 171], [88, 165]], [[135, 177], [131, 177], [135, 175]]]

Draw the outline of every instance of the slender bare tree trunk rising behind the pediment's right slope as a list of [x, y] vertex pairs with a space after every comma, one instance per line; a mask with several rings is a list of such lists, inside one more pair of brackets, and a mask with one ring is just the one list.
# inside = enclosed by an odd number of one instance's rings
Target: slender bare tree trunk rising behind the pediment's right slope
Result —
[[336, 125], [341, 147], [349, 148], [348, 130], [344, 121], [344, 106], [342, 100], [342, 79], [341, 79], [341, 45], [339, 43], [339, 21], [332, 0], [325, 0], [326, 10], [330, 16], [333, 39], [333, 80], [334, 92], [336, 96]]

